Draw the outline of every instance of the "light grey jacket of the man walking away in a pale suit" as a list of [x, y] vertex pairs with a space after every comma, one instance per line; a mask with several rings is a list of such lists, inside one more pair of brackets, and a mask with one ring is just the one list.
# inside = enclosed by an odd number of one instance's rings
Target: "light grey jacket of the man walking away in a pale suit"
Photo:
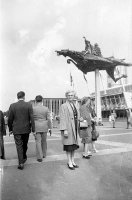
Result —
[[52, 128], [49, 109], [43, 105], [33, 106], [33, 117], [35, 121], [35, 132], [48, 132]]

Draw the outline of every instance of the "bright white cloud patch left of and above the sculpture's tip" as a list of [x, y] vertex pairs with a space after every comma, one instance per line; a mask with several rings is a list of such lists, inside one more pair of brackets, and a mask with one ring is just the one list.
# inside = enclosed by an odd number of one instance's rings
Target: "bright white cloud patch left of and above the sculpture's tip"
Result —
[[59, 21], [47, 32], [38, 42], [35, 49], [29, 53], [28, 58], [37, 66], [44, 66], [51, 56], [51, 53], [63, 44], [63, 37], [60, 31], [65, 27], [65, 19], [60, 18]]

